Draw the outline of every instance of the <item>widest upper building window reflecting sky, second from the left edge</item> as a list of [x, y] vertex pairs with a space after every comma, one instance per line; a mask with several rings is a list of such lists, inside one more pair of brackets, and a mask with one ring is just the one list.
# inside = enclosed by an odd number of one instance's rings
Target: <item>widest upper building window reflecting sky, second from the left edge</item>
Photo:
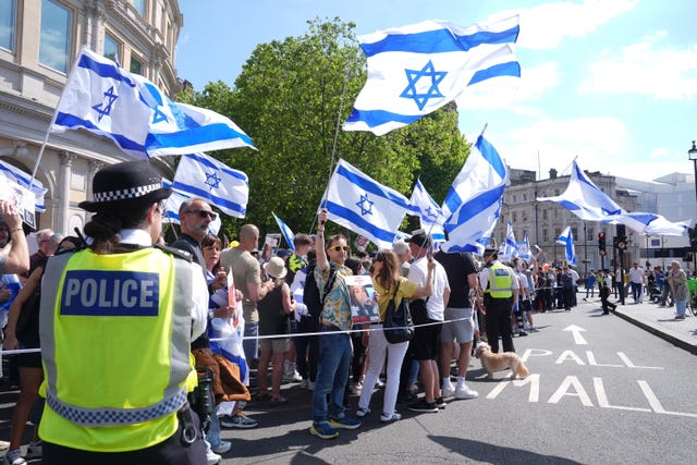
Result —
[[73, 12], [56, 0], [41, 0], [41, 33], [39, 62], [63, 73], [68, 72]]

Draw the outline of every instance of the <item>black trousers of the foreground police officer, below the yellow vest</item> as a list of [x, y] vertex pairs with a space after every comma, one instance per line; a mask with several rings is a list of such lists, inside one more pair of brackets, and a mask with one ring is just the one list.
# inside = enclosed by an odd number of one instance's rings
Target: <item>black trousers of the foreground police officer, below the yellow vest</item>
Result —
[[[194, 423], [198, 417], [194, 415]], [[129, 452], [91, 452], [44, 441], [44, 465], [205, 465], [206, 444], [199, 433], [193, 444], [181, 440], [181, 425], [174, 435], [159, 444]]]

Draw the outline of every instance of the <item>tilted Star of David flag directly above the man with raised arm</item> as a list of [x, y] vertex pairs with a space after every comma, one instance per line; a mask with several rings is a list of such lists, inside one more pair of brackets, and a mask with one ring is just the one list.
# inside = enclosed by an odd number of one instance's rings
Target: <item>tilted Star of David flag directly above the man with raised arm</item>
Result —
[[379, 248], [392, 248], [409, 206], [405, 196], [383, 186], [343, 159], [339, 160], [329, 180], [326, 197], [331, 221], [368, 237]]

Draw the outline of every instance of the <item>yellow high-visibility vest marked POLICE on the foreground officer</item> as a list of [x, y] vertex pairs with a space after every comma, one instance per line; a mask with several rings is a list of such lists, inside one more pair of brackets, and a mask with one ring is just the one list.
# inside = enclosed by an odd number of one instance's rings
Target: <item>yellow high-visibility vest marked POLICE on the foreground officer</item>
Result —
[[39, 317], [44, 440], [123, 452], [176, 432], [176, 412], [196, 384], [192, 271], [151, 247], [48, 261]]

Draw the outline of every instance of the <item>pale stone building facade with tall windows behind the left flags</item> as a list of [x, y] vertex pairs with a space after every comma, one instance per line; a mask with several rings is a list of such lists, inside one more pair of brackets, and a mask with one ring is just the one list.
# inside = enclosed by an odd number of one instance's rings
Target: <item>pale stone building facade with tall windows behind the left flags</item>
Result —
[[48, 189], [37, 229], [82, 230], [87, 218], [77, 204], [90, 197], [95, 172], [126, 159], [110, 139], [84, 130], [48, 133], [81, 48], [172, 97], [180, 90], [174, 47], [182, 26], [176, 0], [0, 0], [0, 160], [29, 174], [36, 167]]

